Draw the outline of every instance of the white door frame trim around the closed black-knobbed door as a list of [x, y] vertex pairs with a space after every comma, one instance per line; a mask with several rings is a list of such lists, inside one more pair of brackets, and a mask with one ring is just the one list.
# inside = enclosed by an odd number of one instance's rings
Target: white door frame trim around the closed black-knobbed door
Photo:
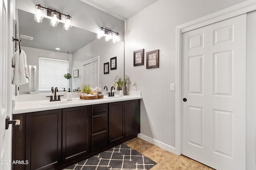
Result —
[[176, 92], [175, 92], [175, 153], [181, 155], [181, 51], [182, 33], [256, 10], [256, 1], [247, 0], [218, 12], [176, 27]]

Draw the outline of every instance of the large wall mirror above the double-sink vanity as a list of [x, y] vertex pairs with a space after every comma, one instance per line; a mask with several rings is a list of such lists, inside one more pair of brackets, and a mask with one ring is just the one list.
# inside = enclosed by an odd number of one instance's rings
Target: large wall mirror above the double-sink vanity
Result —
[[[40, 57], [69, 62], [68, 70], [65, 69], [72, 75], [72, 78], [68, 79], [66, 86], [58, 87], [60, 91], [63, 90], [62, 88], [73, 90], [81, 87], [82, 84], [90, 84], [94, 79], [98, 82], [92, 86], [100, 86], [103, 89], [104, 86], [113, 85], [116, 75], [124, 75], [124, 42], [112, 43], [104, 39], [96, 39], [96, 33], [74, 26], [70, 30], [64, 30], [62, 24], [52, 27], [46, 18], [42, 23], [37, 23], [34, 21], [34, 14], [24, 10], [17, 9], [16, 13], [17, 36], [21, 39], [21, 49], [26, 53], [27, 64], [36, 69], [34, 75], [31, 76], [33, 80], [30, 81], [33, 82], [34, 88], [31, 84], [20, 85], [19, 94], [50, 92], [50, 88], [40, 90], [43, 89], [43, 82], [48, 83], [48, 79], [44, 80], [39, 73], [40, 71], [41, 73], [42, 71], [51, 72], [50, 79], [58, 74], [58, 70], [55, 69], [54, 64], [43, 70], [44, 67], [39, 65]], [[33, 37], [33, 40], [23, 39], [21, 35]], [[104, 63], [110, 62], [113, 57], [117, 57], [117, 69], [109, 69], [109, 74], [104, 74]], [[93, 63], [95, 59], [98, 59], [96, 64]], [[94, 72], [88, 73], [87, 68], [90, 63], [92, 63], [90, 68], [93, 68]], [[98, 70], [98, 73], [95, 73], [95, 70]], [[89, 78], [88, 74], [91, 74]], [[62, 76], [64, 78], [64, 75]]]

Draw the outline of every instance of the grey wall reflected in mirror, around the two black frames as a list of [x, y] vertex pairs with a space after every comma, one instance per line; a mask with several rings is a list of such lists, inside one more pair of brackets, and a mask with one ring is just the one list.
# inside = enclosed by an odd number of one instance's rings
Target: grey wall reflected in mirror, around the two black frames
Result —
[[[100, 73], [99, 73], [99, 84], [103, 90], [104, 86], [110, 87], [113, 86], [113, 81], [115, 77], [124, 76], [124, 42], [116, 42], [112, 43], [111, 41], [104, 41], [104, 39], [95, 39], [88, 45], [79, 49], [75, 53], [73, 53], [73, 70], [79, 70], [79, 76], [77, 78], [72, 78], [73, 87], [82, 86], [82, 68], [81, 63], [84, 61], [91, 59], [93, 57], [100, 56], [99, 64], [100, 64]], [[110, 62], [110, 58], [116, 57], [117, 69], [110, 70], [109, 74], [104, 74], [103, 68], [104, 63]]]

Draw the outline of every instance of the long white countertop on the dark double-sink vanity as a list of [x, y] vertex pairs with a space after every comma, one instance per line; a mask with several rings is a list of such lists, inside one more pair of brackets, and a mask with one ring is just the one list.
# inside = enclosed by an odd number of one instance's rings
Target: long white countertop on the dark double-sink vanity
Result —
[[88, 105], [94, 105], [94, 104], [121, 102], [121, 101], [136, 100], [136, 99], [142, 99], [142, 97], [134, 96], [134, 95], [128, 95], [128, 96], [116, 95], [114, 97], [104, 96], [103, 99], [96, 99], [96, 100], [80, 100], [80, 98], [72, 98], [71, 101], [62, 99], [61, 101], [56, 101], [56, 102], [50, 102], [49, 100], [16, 102], [15, 108], [12, 110], [12, 114], [29, 113], [29, 112], [35, 112], [35, 111], [52, 110], [52, 109], [62, 109], [62, 108], [77, 107], [77, 106], [88, 106]]

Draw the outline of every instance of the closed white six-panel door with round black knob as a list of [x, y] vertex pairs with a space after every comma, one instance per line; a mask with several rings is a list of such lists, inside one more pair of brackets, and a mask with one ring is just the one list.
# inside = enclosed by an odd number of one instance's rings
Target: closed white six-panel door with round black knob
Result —
[[246, 14], [182, 34], [182, 154], [245, 169]]

